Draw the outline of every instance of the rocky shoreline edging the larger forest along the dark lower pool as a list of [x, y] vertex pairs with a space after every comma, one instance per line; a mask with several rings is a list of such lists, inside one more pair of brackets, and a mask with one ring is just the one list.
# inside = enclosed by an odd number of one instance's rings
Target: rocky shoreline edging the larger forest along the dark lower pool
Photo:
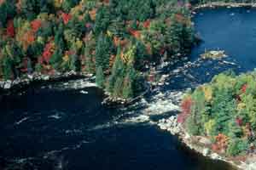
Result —
[[[16, 78], [15, 80], [6, 80], [0, 81], [0, 96], [2, 95], [11, 95], [15, 92], [20, 92], [29, 88], [32, 84], [42, 84], [42, 83], [51, 83], [51, 82], [68, 82], [72, 80], [82, 80], [85, 82], [82, 85], [83, 88], [96, 87], [95, 77], [92, 74], [85, 74], [81, 72], [68, 71], [62, 74], [55, 75], [44, 75], [41, 73], [32, 73], [31, 75], [25, 75], [24, 77]], [[145, 94], [148, 94], [150, 87], [148, 82], [147, 89], [142, 92], [142, 94], [137, 95], [132, 99], [122, 99], [119, 97], [112, 97], [106, 90], [102, 89], [102, 94], [105, 95], [105, 98], [102, 101], [102, 105], [108, 106], [117, 106], [117, 105], [131, 105], [137, 100], [142, 99]]]

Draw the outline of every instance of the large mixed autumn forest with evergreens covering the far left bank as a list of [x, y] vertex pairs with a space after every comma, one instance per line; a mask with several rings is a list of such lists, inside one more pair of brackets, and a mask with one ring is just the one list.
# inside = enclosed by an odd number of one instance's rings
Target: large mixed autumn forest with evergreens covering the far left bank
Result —
[[170, 0], [0, 0], [0, 77], [92, 73], [98, 87], [132, 98], [148, 68], [189, 53], [190, 8]]

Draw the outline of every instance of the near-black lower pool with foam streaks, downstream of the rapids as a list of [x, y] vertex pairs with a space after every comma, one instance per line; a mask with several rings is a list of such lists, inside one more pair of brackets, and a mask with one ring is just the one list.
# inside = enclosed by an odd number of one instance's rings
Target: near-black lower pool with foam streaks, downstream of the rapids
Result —
[[225, 169], [148, 122], [132, 121], [139, 111], [105, 108], [98, 89], [85, 90], [31, 88], [3, 99], [2, 168]]

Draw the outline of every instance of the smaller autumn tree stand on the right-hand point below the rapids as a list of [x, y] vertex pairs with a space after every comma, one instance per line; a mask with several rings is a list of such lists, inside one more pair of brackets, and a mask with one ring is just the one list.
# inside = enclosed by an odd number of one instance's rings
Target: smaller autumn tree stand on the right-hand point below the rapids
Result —
[[242, 156], [256, 139], [256, 71], [235, 76], [226, 71], [187, 94], [178, 122], [192, 135], [212, 140], [212, 150]]

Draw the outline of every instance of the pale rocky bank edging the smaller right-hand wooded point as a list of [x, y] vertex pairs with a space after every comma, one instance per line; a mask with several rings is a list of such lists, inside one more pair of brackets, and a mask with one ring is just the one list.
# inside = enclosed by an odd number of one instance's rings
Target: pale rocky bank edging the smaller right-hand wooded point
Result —
[[189, 147], [190, 150], [200, 153], [202, 156], [207, 156], [212, 160], [225, 161], [235, 169], [255, 170], [256, 155], [247, 155], [242, 157], [227, 157], [211, 150], [212, 141], [202, 136], [191, 136], [186, 132], [185, 128], [177, 122], [177, 116], [170, 116], [166, 119], [161, 119], [157, 126], [162, 130], [166, 130], [172, 135], [177, 135], [178, 138]]

